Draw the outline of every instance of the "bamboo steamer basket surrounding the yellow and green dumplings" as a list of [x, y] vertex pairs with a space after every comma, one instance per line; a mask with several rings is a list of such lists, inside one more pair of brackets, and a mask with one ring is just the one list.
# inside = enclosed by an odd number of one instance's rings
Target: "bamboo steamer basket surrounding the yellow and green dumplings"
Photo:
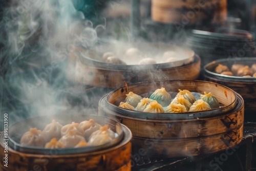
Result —
[[[186, 89], [214, 94], [222, 108], [182, 114], [153, 114], [119, 108], [125, 94], [149, 97], [156, 89]], [[128, 89], [128, 90], [127, 90]], [[184, 157], [212, 154], [237, 145], [243, 137], [243, 98], [217, 83], [207, 81], [155, 81], [121, 87], [99, 101], [99, 115], [123, 123], [133, 133], [133, 155], [143, 149], [146, 157]]]

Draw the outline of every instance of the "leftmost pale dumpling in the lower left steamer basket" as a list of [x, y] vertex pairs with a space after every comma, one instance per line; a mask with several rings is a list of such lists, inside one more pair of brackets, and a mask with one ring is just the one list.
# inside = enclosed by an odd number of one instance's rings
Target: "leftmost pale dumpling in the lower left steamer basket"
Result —
[[37, 130], [36, 127], [31, 128], [28, 132], [24, 133], [20, 139], [20, 144], [29, 146], [45, 146], [45, 137], [41, 130]]

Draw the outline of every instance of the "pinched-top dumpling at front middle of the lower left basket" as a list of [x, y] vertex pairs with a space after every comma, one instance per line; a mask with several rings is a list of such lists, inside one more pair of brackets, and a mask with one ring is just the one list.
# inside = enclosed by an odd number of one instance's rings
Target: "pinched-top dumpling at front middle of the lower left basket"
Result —
[[59, 139], [59, 142], [64, 144], [64, 147], [74, 147], [76, 144], [78, 144], [81, 140], [86, 140], [83, 138], [83, 136], [77, 135], [76, 130], [69, 131], [66, 135], [62, 136]]

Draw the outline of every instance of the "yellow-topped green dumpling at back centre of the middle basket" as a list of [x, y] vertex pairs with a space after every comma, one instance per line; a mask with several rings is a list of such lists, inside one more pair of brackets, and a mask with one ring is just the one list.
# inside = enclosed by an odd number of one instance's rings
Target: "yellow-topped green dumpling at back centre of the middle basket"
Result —
[[156, 100], [162, 106], [167, 106], [172, 101], [172, 97], [165, 88], [157, 89], [151, 96], [150, 99]]

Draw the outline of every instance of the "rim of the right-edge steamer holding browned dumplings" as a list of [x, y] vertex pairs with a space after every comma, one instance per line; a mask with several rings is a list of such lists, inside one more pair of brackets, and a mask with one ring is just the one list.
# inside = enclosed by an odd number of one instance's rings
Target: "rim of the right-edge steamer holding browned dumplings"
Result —
[[255, 77], [238, 77], [238, 76], [228, 76], [228, 75], [222, 75], [215, 72], [212, 72], [209, 70], [209, 68], [215, 68], [219, 64], [222, 65], [233, 65], [235, 63], [241, 63], [244, 64], [247, 63], [248, 65], [252, 65], [253, 63], [256, 63], [256, 57], [242, 57], [242, 58], [224, 58], [224, 59], [218, 59], [214, 60], [210, 63], [207, 63], [203, 69], [204, 73], [208, 76], [215, 76], [218, 79], [225, 80], [225, 81], [232, 81], [232, 82], [248, 82], [248, 83], [255, 83], [256, 78]]

